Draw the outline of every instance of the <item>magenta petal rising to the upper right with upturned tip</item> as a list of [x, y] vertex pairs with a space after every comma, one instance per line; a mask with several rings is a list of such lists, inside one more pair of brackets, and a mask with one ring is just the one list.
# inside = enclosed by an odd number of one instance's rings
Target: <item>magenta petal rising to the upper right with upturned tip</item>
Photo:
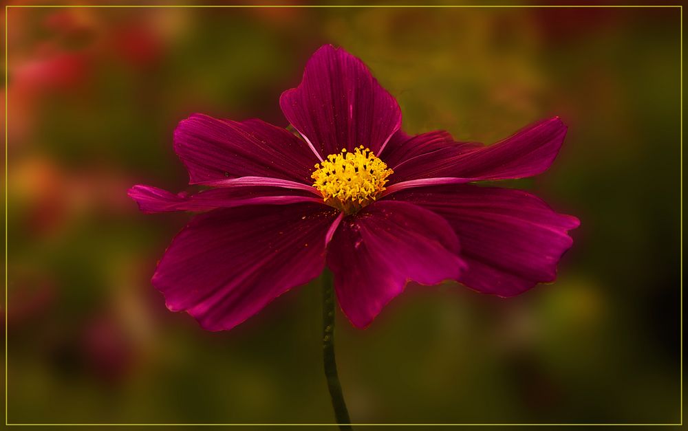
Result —
[[[449, 142], [448, 134], [425, 133], [409, 137], [389, 148], [394, 174], [390, 184], [395, 190], [436, 184], [436, 178], [454, 178], [455, 184], [484, 179], [530, 177], [544, 172], [554, 161], [566, 135], [566, 125], [559, 117], [526, 127], [496, 144], [480, 146], [473, 142]], [[443, 141], [444, 140], [444, 141]], [[405, 148], [416, 146], [416, 151]], [[419, 154], [420, 153], [420, 154]], [[403, 154], [403, 156], [400, 156]], [[389, 165], [387, 159], [383, 160]], [[400, 162], [398, 162], [399, 160]], [[429, 181], [422, 181], [422, 180]], [[408, 184], [407, 181], [415, 181]]]

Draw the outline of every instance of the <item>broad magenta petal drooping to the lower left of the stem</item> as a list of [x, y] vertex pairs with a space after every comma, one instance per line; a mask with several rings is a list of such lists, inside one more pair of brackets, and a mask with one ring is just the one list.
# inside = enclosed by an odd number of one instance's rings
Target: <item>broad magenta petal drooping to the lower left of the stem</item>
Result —
[[166, 250], [153, 285], [171, 311], [188, 311], [211, 331], [231, 329], [321, 273], [337, 217], [313, 203], [197, 215]]

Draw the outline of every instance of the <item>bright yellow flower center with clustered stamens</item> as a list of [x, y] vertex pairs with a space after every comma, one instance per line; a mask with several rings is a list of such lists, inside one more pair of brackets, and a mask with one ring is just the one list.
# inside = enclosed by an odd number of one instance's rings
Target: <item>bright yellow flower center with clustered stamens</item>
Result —
[[375, 201], [385, 190], [387, 177], [392, 170], [368, 148], [359, 146], [354, 152], [344, 148], [339, 154], [330, 154], [315, 165], [311, 178], [327, 205], [353, 214]]

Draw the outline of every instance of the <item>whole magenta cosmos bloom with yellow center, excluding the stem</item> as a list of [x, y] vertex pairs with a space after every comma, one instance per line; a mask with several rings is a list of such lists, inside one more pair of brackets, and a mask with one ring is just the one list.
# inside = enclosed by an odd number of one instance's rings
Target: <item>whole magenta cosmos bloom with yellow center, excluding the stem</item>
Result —
[[195, 114], [174, 133], [195, 195], [134, 186], [143, 212], [194, 211], [155, 269], [172, 311], [231, 329], [325, 265], [341, 309], [367, 327], [407, 281], [513, 296], [556, 277], [578, 219], [521, 190], [474, 181], [546, 170], [559, 118], [496, 144], [407, 135], [391, 94], [358, 58], [325, 45], [280, 107], [300, 137], [261, 120]]

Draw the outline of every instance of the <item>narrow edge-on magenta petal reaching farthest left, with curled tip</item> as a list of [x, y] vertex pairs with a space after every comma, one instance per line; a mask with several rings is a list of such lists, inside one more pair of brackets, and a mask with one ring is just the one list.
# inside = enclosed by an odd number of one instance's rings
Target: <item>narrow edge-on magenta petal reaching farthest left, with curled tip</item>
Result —
[[127, 193], [138, 203], [142, 212], [170, 212], [170, 211], [208, 211], [215, 208], [233, 208], [244, 205], [286, 205], [297, 202], [323, 203], [321, 197], [314, 197], [311, 192], [304, 190], [288, 190], [268, 186], [241, 186], [204, 190], [189, 195], [189, 193], [168, 192], [162, 188], [151, 186], [133, 186]]

